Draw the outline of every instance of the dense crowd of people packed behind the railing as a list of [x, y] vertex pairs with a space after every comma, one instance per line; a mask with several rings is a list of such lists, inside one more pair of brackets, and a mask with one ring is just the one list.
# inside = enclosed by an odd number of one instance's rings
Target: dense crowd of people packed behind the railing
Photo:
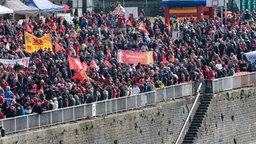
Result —
[[[0, 64], [0, 118], [42, 113], [84, 103], [135, 95], [189, 81], [232, 76], [255, 70], [243, 53], [256, 49], [256, 14], [233, 13], [232, 17], [176, 20], [165, 24], [161, 17], [113, 16], [87, 12], [72, 23], [62, 17], [26, 19], [22, 24], [0, 23], [0, 57], [30, 57], [29, 66]], [[180, 37], [172, 38], [175, 23]], [[143, 23], [149, 32], [138, 29]], [[50, 33], [63, 51], [27, 53], [24, 31], [41, 37]], [[7, 47], [8, 45], [8, 47]], [[118, 63], [117, 51], [153, 51], [154, 64]], [[68, 56], [88, 64], [89, 80], [74, 81]], [[164, 60], [165, 58], [166, 60]], [[111, 67], [105, 60], [111, 63]], [[98, 68], [90, 67], [95, 61]]]

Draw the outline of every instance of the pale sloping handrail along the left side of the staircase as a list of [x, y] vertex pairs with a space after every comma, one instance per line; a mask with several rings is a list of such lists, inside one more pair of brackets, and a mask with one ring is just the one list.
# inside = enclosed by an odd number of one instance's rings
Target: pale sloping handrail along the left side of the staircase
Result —
[[194, 101], [194, 103], [193, 103], [193, 105], [192, 105], [192, 107], [191, 107], [191, 110], [189, 111], [189, 114], [188, 114], [188, 116], [187, 116], [187, 118], [186, 118], [185, 123], [184, 123], [183, 126], [182, 126], [182, 129], [181, 129], [181, 131], [180, 131], [180, 133], [179, 133], [179, 136], [178, 136], [178, 138], [177, 138], [175, 144], [178, 144], [178, 143], [179, 143], [179, 141], [180, 141], [180, 139], [181, 139], [181, 136], [182, 136], [182, 134], [183, 134], [183, 132], [184, 132], [184, 130], [185, 130], [187, 124], [188, 124], [189, 118], [190, 118], [190, 116], [191, 116], [191, 114], [192, 114], [192, 112], [193, 112], [193, 110], [194, 110], [194, 108], [195, 108], [195, 106], [196, 106], [196, 104], [197, 104], [197, 101], [198, 101], [198, 99], [199, 99], [199, 96], [200, 96], [199, 91], [200, 91], [201, 87], [202, 87], [202, 83], [200, 83], [199, 86], [198, 86], [198, 89], [197, 89], [197, 91], [196, 91], [196, 93], [197, 93], [196, 99], [195, 99], [195, 101]]

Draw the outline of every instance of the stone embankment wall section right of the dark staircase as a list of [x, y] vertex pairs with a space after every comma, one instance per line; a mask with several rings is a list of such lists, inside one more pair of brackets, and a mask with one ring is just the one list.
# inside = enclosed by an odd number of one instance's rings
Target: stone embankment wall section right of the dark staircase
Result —
[[198, 135], [198, 144], [256, 142], [256, 90], [215, 94]]

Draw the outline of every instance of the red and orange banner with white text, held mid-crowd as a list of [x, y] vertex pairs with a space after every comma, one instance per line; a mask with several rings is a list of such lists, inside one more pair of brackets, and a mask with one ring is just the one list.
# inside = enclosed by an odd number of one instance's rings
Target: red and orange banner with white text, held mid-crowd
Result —
[[153, 52], [134, 52], [127, 50], [118, 50], [117, 61], [128, 64], [153, 64]]

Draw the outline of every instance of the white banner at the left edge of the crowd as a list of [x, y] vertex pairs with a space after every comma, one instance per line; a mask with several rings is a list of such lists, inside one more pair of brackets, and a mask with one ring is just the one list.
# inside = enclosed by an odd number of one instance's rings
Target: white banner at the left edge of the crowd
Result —
[[22, 59], [0, 59], [0, 63], [2, 63], [5, 67], [10, 66], [13, 67], [16, 63], [19, 65], [23, 65], [25, 67], [28, 67], [29, 64], [29, 57], [25, 57]]

